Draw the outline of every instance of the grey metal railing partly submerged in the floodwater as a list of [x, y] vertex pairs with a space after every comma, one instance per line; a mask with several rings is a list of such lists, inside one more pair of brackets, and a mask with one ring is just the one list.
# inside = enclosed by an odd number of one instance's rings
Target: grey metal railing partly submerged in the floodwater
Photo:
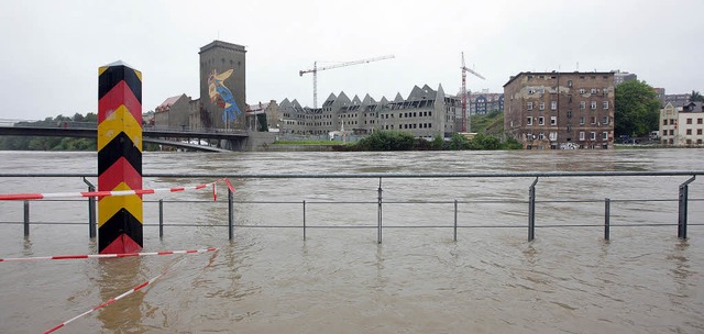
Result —
[[[468, 174], [442, 174], [442, 172], [433, 172], [433, 174], [190, 174], [190, 175], [178, 175], [178, 174], [145, 174], [143, 177], [147, 178], [164, 178], [164, 179], [216, 179], [216, 178], [228, 178], [228, 179], [374, 179], [378, 180], [378, 187], [376, 190], [376, 198], [370, 201], [310, 201], [310, 200], [300, 200], [300, 201], [245, 201], [238, 200], [237, 194], [232, 192], [232, 190], [228, 189], [228, 237], [232, 240], [234, 237], [234, 229], [246, 229], [246, 227], [268, 227], [268, 229], [300, 229], [302, 233], [302, 238], [306, 240], [307, 230], [312, 229], [376, 229], [377, 232], [377, 243], [382, 243], [383, 231], [384, 229], [424, 229], [424, 227], [446, 227], [453, 230], [453, 240], [458, 238], [458, 229], [527, 229], [528, 241], [532, 241], [536, 237], [536, 203], [603, 203], [604, 213], [603, 224], [570, 224], [570, 225], [543, 225], [538, 227], [603, 227], [604, 229], [604, 240], [610, 238], [610, 227], [614, 226], [610, 222], [612, 213], [610, 207], [612, 203], [616, 202], [647, 202], [647, 203], [657, 203], [657, 202], [676, 202], [678, 203], [678, 219], [676, 222], [671, 223], [647, 223], [647, 224], [620, 224], [619, 226], [674, 226], [676, 225], [678, 237], [685, 240], [688, 237], [688, 225], [704, 225], [702, 223], [689, 223], [689, 204], [691, 202], [701, 202], [704, 199], [689, 198], [689, 186], [692, 183], [696, 176], [704, 175], [704, 171], [575, 171], [575, 172], [468, 172]], [[672, 199], [609, 199], [604, 198], [603, 200], [594, 200], [594, 199], [580, 199], [580, 200], [543, 200], [539, 201], [536, 192], [537, 187], [539, 187], [539, 181], [541, 179], [548, 178], [588, 178], [588, 177], [606, 177], [606, 178], [627, 178], [627, 177], [648, 177], [648, 178], [657, 178], [657, 177], [690, 177], [685, 181], [679, 185], [679, 193], [676, 199], [674, 198], [674, 192]], [[30, 179], [30, 178], [82, 178], [82, 181], [88, 186], [88, 191], [95, 191], [95, 186], [86, 179], [87, 177], [95, 178], [96, 175], [86, 175], [86, 174], [0, 174], [0, 180], [18, 178], [18, 179]], [[502, 179], [502, 178], [525, 178], [528, 180], [532, 180], [532, 183], [528, 187], [528, 193], [526, 200], [508, 200], [508, 199], [493, 199], [493, 200], [484, 200], [484, 201], [459, 201], [457, 199], [449, 200], [435, 200], [435, 201], [388, 201], [384, 198], [384, 180], [389, 179]], [[663, 192], [668, 192], [669, 190], [663, 190]], [[304, 196], [301, 196], [304, 197]], [[32, 224], [66, 224], [66, 225], [75, 225], [75, 224], [87, 224], [88, 225], [88, 234], [89, 237], [96, 237], [96, 198], [91, 197], [84, 200], [68, 200], [68, 199], [52, 199], [45, 201], [55, 201], [55, 202], [85, 202], [87, 203], [88, 210], [88, 220], [84, 223], [68, 223], [68, 222], [33, 222], [31, 221], [31, 201], [23, 201], [23, 221], [1, 221], [3, 220], [0, 216], [0, 224], [23, 224], [24, 225], [24, 236], [30, 236], [30, 226]], [[166, 224], [164, 223], [164, 204], [165, 203], [182, 203], [182, 204], [205, 204], [206, 202], [212, 203], [212, 201], [205, 200], [175, 200], [175, 201], [164, 201], [163, 199], [158, 200], [144, 200], [145, 205], [155, 204], [158, 205], [158, 224], [144, 224], [145, 226], [155, 226], [158, 225], [158, 234], [160, 238], [164, 237], [164, 226], [213, 226], [213, 227], [223, 227], [222, 224]], [[460, 204], [466, 205], [472, 203], [513, 203], [513, 204], [525, 204], [527, 205], [526, 220], [527, 224], [520, 225], [472, 225], [461, 223], [458, 219], [458, 212]], [[266, 205], [298, 205], [300, 204], [300, 214], [301, 221], [300, 225], [248, 225], [248, 224], [238, 224], [237, 216], [234, 214], [237, 205], [244, 204], [266, 204]], [[336, 225], [336, 226], [326, 226], [326, 225], [310, 225], [307, 223], [307, 207], [311, 204], [315, 205], [344, 205], [344, 204], [375, 204], [376, 205], [376, 224], [375, 225]], [[414, 205], [426, 205], [426, 204], [450, 204], [453, 207], [453, 222], [452, 224], [439, 224], [439, 225], [385, 225], [384, 224], [384, 208], [388, 208], [389, 205], [395, 204], [414, 204]], [[596, 215], [597, 213], [594, 213]]]

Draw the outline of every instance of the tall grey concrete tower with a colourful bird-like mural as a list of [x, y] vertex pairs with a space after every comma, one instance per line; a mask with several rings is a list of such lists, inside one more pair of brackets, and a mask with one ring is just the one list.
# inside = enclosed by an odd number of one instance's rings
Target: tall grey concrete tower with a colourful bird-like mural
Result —
[[[221, 41], [215, 41], [200, 48], [200, 103], [207, 111], [206, 115], [210, 118], [201, 120], [205, 127], [245, 129], [245, 53], [244, 46]], [[230, 71], [231, 74], [228, 76]], [[213, 96], [211, 87], [213, 75], [222, 79], [221, 84], [226, 91], [231, 93], [232, 99], [228, 97], [227, 92]], [[229, 109], [234, 115], [234, 120], [226, 122], [223, 114], [229, 108], [228, 104], [237, 105], [237, 110]]]

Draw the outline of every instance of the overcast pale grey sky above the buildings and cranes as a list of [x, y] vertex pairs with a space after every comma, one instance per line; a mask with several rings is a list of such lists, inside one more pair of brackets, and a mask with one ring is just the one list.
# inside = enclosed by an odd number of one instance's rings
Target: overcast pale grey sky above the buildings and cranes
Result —
[[319, 100], [343, 90], [407, 97], [461, 87], [460, 54], [503, 92], [520, 71], [635, 73], [668, 93], [704, 91], [702, 0], [262, 0], [0, 2], [0, 119], [96, 112], [98, 67], [143, 74], [143, 111], [199, 94], [198, 51], [246, 46], [246, 102], [312, 105], [314, 62], [394, 59], [320, 71]]

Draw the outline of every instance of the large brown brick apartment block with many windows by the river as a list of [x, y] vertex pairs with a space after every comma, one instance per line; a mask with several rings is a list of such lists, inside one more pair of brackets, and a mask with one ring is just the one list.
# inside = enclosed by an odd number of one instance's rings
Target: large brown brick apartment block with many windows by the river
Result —
[[520, 73], [504, 96], [504, 130], [525, 148], [613, 148], [613, 73]]

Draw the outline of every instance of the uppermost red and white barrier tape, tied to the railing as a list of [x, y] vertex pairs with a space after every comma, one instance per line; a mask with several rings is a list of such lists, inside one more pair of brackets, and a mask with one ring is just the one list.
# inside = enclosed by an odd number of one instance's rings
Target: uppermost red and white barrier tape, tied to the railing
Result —
[[107, 196], [131, 196], [147, 194], [157, 192], [179, 192], [186, 190], [204, 189], [212, 185], [212, 198], [217, 200], [216, 183], [224, 182], [228, 188], [234, 192], [234, 187], [227, 178], [210, 183], [202, 183], [190, 187], [162, 188], [162, 189], [138, 189], [138, 190], [113, 190], [113, 191], [79, 191], [79, 192], [50, 192], [50, 193], [7, 193], [0, 194], [0, 201], [21, 201], [21, 200], [43, 200], [51, 198], [86, 198], [86, 197], [107, 197]]

